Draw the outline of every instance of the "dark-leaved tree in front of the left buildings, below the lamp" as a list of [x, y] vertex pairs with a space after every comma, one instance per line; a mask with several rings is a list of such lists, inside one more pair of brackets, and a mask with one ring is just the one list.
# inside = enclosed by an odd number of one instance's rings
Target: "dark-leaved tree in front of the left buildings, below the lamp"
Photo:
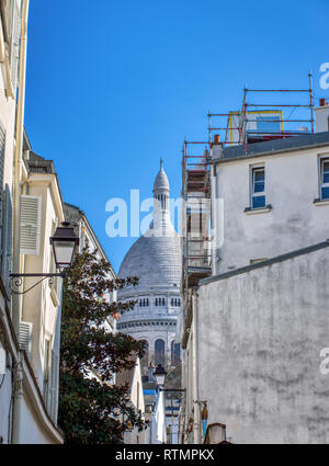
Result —
[[144, 343], [106, 330], [109, 320], [135, 304], [109, 303], [106, 296], [138, 279], [113, 281], [110, 271], [106, 261], [84, 250], [64, 281], [58, 424], [66, 443], [118, 443], [128, 428], [145, 428], [128, 387], [112, 384], [113, 374], [134, 367], [132, 355], [143, 356]]

